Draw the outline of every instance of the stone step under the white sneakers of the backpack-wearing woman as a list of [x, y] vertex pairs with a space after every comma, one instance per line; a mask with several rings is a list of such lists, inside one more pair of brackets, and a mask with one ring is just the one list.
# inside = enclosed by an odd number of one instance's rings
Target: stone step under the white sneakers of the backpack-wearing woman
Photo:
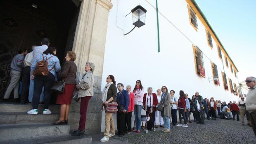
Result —
[[31, 115], [26, 112], [0, 112], [0, 124], [53, 123], [59, 113]]

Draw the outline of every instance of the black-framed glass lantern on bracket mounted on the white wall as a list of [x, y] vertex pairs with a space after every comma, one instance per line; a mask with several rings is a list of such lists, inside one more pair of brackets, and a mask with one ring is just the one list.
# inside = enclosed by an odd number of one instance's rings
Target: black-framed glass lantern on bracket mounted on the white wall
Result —
[[[132, 17], [133, 17], [133, 25], [134, 25], [131, 31], [133, 31], [135, 27], [140, 28], [141, 26], [145, 25], [144, 22], [146, 19], [146, 12], [147, 10], [143, 8], [141, 5], [137, 5], [131, 10]], [[129, 31], [128, 33], [130, 33], [131, 31]], [[127, 35], [128, 33], [124, 35]]]

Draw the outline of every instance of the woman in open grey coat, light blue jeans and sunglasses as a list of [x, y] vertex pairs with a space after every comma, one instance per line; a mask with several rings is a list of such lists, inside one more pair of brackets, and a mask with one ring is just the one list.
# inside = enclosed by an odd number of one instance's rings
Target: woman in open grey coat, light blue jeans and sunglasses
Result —
[[162, 86], [162, 95], [160, 103], [163, 104], [163, 111], [161, 111], [161, 116], [164, 118], [164, 130], [163, 132], [171, 132], [170, 125], [170, 117], [171, 117], [171, 95], [168, 92], [166, 86]]

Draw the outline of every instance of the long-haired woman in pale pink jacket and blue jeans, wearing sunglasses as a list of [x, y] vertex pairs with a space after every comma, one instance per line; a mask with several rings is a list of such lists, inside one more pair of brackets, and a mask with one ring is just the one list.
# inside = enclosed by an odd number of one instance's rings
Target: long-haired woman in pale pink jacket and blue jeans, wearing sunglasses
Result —
[[144, 88], [142, 87], [141, 81], [137, 80], [136, 85], [133, 89], [134, 93], [134, 117], [135, 117], [135, 129], [133, 132], [140, 133], [140, 125], [141, 125], [141, 110], [143, 105], [143, 94]]

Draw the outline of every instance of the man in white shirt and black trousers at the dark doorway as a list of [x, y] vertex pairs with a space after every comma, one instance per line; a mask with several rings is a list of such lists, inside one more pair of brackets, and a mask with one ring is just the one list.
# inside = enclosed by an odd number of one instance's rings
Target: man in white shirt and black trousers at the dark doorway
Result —
[[30, 83], [30, 67], [31, 67], [31, 61], [33, 59], [33, 49], [36, 47], [36, 45], [33, 45], [31, 47], [32, 52], [29, 52], [26, 54], [26, 57], [24, 59], [24, 69], [22, 71], [22, 88], [21, 88], [21, 101], [20, 103], [26, 104], [28, 99], [28, 87]]

